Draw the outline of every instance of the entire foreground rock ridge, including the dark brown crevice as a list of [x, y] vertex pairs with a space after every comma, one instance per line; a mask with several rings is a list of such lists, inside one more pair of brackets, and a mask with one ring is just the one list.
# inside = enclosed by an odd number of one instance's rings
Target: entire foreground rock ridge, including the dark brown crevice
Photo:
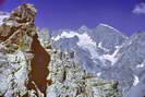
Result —
[[93, 76], [73, 52], [51, 48], [48, 32], [35, 27], [36, 12], [23, 4], [0, 26], [0, 96], [121, 97], [117, 82]]

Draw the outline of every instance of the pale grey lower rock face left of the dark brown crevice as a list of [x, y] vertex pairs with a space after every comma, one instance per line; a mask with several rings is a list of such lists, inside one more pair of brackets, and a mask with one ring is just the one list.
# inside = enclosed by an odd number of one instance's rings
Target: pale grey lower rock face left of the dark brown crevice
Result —
[[25, 84], [28, 81], [28, 61], [31, 54], [22, 51], [14, 53], [1, 52], [0, 60], [0, 95], [4, 97], [24, 95], [27, 92]]

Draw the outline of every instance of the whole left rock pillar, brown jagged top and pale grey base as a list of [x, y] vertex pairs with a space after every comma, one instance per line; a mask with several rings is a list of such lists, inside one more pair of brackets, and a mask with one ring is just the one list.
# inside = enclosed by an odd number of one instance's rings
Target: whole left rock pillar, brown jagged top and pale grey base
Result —
[[34, 5], [23, 4], [0, 26], [0, 96], [20, 97], [27, 93], [36, 12]]

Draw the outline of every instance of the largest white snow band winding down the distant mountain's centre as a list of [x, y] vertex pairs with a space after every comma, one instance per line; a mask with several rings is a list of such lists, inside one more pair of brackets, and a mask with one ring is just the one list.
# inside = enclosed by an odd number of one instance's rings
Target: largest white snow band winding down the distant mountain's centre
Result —
[[87, 49], [90, 53], [92, 59], [99, 59], [104, 64], [105, 61], [108, 60], [111, 62], [111, 65], [113, 65], [118, 61], [117, 54], [122, 46], [116, 46], [116, 50], [112, 54], [99, 56], [96, 49], [97, 47], [104, 49], [105, 51], [109, 51], [109, 49], [104, 48], [102, 43], [99, 43], [97, 46], [96, 43], [86, 33], [78, 34], [77, 32], [62, 32], [61, 35], [52, 37], [52, 40], [59, 40], [61, 38], [72, 38], [74, 36], [78, 37], [78, 43], [76, 43], [77, 46], [82, 47], [83, 49]]

